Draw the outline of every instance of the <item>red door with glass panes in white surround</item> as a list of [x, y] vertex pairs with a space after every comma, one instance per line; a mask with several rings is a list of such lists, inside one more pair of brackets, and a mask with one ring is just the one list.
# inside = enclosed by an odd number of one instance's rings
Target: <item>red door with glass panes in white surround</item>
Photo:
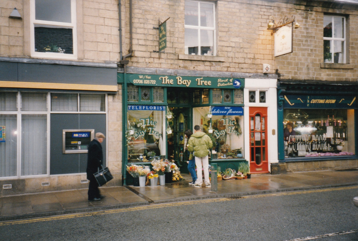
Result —
[[267, 173], [267, 107], [250, 107], [249, 114], [250, 173]]

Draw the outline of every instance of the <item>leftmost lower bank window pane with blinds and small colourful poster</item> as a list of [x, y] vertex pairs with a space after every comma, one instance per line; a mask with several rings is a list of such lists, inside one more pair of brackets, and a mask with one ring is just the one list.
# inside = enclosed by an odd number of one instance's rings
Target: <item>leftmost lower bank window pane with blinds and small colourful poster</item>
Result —
[[17, 115], [0, 114], [0, 177], [16, 176]]

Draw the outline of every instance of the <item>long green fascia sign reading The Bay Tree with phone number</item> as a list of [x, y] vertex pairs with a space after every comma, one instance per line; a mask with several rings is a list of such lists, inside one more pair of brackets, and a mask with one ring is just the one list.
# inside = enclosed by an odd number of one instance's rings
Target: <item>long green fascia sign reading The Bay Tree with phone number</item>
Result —
[[195, 87], [195, 88], [243, 88], [245, 79], [226, 77], [197, 77], [177, 75], [145, 75], [128, 74], [128, 80], [134, 85], [160, 86], [160, 87]]

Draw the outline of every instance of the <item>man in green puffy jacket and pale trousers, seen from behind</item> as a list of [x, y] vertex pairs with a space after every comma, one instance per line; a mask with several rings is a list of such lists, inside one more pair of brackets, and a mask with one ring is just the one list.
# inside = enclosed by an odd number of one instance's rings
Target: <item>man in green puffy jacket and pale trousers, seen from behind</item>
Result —
[[194, 134], [189, 138], [188, 151], [193, 153], [195, 164], [197, 165], [197, 183], [194, 187], [202, 187], [204, 170], [205, 187], [211, 187], [209, 181], [209, 150], [213, 147], [211, 138], [201, 131], [200, 126], [194, 126]]

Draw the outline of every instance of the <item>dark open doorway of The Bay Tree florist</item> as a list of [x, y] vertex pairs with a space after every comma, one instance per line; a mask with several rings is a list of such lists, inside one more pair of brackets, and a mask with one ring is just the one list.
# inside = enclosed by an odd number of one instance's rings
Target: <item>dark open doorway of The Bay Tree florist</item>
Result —
[[168, 159], [174, 160], [180, 172], [189, 173], [187, 161], [189, 155], [184, 148], [184, 131], [190, 126], [191, 112], [188, 107], [170, 107], [174, 117], [168, 120], [172, 133], [168, 135]]

